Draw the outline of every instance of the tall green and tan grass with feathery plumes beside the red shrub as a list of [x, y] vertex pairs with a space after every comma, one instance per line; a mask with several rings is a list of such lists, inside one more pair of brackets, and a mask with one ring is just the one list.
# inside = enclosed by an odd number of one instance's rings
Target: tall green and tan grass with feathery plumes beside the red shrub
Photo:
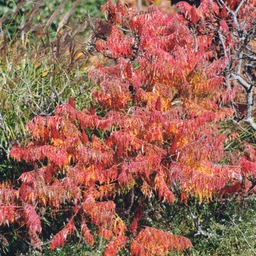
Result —
[[0, 180], [18, 178], [7, 153], [26, 140], [25, 124], [33, 116], [53, 113], [69, 96], [79, 98], [80, 108], [88, 107], [90, 64], [84, 48], [103, 2], [86, 7], [79, 1], [1, 3]]

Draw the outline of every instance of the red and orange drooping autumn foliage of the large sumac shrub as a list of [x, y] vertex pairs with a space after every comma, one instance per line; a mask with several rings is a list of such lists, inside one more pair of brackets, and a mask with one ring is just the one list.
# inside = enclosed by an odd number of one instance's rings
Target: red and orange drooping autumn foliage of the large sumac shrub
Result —
[[[31, 140], [12, 147], [10, 155], [34, 170], [20, 176], [18, 189], [2, 184], [2, 225], [26, 222], [31, 244], [39, 248], [40, 208], [58, 214], [67, 206], [69, 220], [51, 249], [75, 233], [79, 219], [89, 244], [94, 244], [89, 223], [110, 241], [106, 256], [129, 241], [133, 255], [164, 255], [192, 244], [153, 227], [138, 229], [144, 200], [187, 203], [194, 195], [200, 202], [213, 200], [239, 192], [242, 186], [226, 186], [241, 184], [248, 174], [253, 189], [252, 157], [236, 166], [219, 163], [230, 138], [219, 133], [218, 124], [233, 118], [236, 89], [227, 87], [231, 57], [215, 56], [215, 29], [208, 20], [227, 32], [226, 7], [207, 0], [198, 8], [184, 2], [179, 7], [181, 14], [171, 16], [154, 5], [141, 12], [120, 1], [103, 7], [108, 20], [94, 27], [90, 44], [112, 61], [95, 63], [89, 75], [97, 84], [91, 97], [106, 114], [98, 115], [92, 105], [77, 110], [70, 97], [54, 116], [36, 116], [26, 125]], [[227, 44], [232, 42], [227, 37]], [[254, 148], [247, 149], [255, 157]], [[131, 207], [117, 214], [115, 198], [124, 191], [134, 198], [134, 189], [142, 196], [129, 227], [123, 214]]]

